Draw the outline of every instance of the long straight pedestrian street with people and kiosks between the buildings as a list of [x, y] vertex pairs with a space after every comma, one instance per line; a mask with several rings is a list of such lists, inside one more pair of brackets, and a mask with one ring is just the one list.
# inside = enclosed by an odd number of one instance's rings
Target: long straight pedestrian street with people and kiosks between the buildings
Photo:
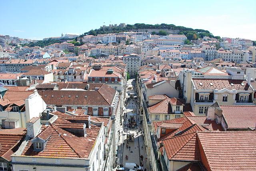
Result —
[[[142, 121], [139, 118], [138, 104], [136, 102], [137, 92], [135, 87], [135, 79], [128, 80], [126, 93], [130, 96], [128, 95], [126, 99], [126, 109], [124, 117], [122, 118], [122, 125], [120, 126], [118, 165], [122, 164], [125, 167], [125, 163], [136, 163], [141, 166], [142, 163], [144, 171], [146, 167], [145, 146], [143, 141], [144, 131], [142, 130]], [[134, 97], [132, 97], [133, 95]], [[144, 157], [143, 161], [140, 158], [141, 155]], [[149, 168], [146, 169], [149, 171]]]

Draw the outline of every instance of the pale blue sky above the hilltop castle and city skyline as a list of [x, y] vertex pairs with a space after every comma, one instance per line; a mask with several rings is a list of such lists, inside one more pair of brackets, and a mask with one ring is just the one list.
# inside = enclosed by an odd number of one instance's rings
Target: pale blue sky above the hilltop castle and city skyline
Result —
[[0, 34], [40, 40], [108, 24], [175, 24], [256, 40], [256, 0], [1, 0]]

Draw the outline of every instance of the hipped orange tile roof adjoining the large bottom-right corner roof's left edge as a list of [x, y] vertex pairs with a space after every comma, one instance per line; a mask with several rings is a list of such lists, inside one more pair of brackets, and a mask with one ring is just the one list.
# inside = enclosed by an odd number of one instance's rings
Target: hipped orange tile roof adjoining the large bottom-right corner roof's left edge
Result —
[[164, 139], [162, 142], [169, 160], [200, 161], [196, 133]]

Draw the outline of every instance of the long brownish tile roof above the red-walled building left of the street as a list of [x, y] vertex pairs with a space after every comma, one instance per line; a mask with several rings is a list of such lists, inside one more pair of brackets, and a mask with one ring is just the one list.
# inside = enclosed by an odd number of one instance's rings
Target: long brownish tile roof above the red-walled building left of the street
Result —
[[47, 105], [111, 105], [116, 90], [104, 84], [98, 91], [38, 91]]

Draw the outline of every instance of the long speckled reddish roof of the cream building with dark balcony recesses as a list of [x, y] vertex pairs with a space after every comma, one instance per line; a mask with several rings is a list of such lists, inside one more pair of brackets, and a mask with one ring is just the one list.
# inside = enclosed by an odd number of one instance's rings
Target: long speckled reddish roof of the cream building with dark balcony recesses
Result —
[[[252, 88], [247, 84], [245, 80], [231, 80], [231, 79], [196, 79], [193, 78], [193, 83], [196, 86], [196, 89], [236, 89], [236, 90], [252, 90]], [[200, 85], [202, 83], [202, 85]], [[213, 85], [210, 85], [212, 83]], [[234, 85], [231, 85], [234, 84]], [[241, 85], [241, 84], [244, 84]]]

